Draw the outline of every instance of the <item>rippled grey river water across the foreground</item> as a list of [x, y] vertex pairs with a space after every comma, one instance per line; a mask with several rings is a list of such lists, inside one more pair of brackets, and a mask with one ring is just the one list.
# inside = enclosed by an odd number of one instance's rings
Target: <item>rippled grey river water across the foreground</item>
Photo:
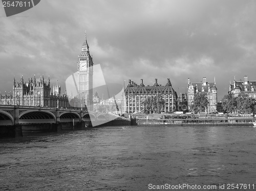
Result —
[[2, 139], [0, 145], [1, 190], [228, 183], [254, 183], [256, 190], [256, 128], [251, 126], [102, 127]]

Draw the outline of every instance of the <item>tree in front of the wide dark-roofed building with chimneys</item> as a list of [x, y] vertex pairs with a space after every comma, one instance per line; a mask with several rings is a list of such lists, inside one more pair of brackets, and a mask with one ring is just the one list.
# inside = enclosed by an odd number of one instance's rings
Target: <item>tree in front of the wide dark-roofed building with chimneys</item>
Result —
[[148, 96], [143, 102], [144, 113], [160, 113], [164, 110], [165, 102], [161, 95]]

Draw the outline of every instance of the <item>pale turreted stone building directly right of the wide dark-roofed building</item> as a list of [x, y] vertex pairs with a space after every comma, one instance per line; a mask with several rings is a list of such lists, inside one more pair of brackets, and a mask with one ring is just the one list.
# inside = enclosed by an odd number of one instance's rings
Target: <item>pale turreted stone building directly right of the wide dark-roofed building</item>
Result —
[[206, 82], [206, 77], [203, 77], [203, 82], [190, 82], [188, 78], [187, 87], [187, 105], [190, 111], [190, 105], [193, 104], [195, 94], [198, 92], [206, 92], [208, 96], [209, 106], [206, 112], [217, 111], [217, 87], [216, 82]]

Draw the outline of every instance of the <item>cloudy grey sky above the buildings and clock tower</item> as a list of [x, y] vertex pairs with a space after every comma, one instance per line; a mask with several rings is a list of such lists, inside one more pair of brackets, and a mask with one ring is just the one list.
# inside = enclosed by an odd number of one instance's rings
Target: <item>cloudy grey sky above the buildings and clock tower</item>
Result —
[[256, 80], [256, 1], [41, 0], [6, 17], [0, 7], [0, 91], [20, 81], [50, 76], [61, 84], [77, 71], [84, 31], [105, 81], [165, 85], [177, 93], [187, 79], [216, 78], [218, 101], [229, 81]]

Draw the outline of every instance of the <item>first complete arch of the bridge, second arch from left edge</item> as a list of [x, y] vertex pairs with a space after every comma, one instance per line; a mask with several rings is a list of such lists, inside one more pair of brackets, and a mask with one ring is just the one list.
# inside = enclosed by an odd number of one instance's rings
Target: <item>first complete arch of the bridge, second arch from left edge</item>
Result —
[[19, 114], [19, 123], [56, 123], [56, 116], [45, 110], [28, 110]]

